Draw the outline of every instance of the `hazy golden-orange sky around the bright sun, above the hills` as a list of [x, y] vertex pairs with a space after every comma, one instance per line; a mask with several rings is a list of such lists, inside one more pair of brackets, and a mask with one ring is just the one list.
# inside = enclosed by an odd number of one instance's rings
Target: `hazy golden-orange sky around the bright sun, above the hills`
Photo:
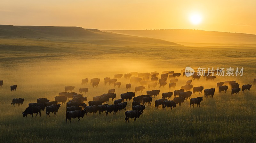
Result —
[[256, 34], [256, 0], [1, 0], [0, 24]]

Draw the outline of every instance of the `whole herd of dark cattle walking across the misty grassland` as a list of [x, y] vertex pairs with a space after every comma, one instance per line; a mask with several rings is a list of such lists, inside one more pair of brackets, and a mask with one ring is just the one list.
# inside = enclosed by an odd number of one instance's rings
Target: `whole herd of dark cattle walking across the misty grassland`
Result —
[[[185, 75], [184, 70], [181, 70], [183, 72], [183, 76]], [[206, 73], [207, 74], [207, 73]], [[167, 84], [167, 78], [170, 79], [169, 88], [176, 87], [176, 83], [179, 81], [179, 77], [181, 73], [174, 73], [173, 71], [165, 71], [163, 74], [161, 74], [161, 79], [158, 79], [158, 72], [151, 72], [151, 73], [138, 73], [138, 72], [131, 72], [124, 74], [124, 79], [130, 79], [131, 83], [126, 84], [126, 90], [131, 89], [132, 84], [140, 83], [140, 86], [135, 87], [135, 92], [141, 92], [146, 89], [146, 85], [148, 85], [148, 89], [151, 87], [154, 89], [157, 85], [159, 87], [165, 87]], [[133, 77], [132, 77], [133, 76]], [[109, 85], [113, 84], [114, 87], [120, 87], [121, 82], [117, 82], [117, 79], [120, 79], [123, 77], [123, 74], [116, 74], [114, 76], [114, 79], [110, 79], [109, 77], [104, 78], [104, 84], [107, 83]], [[214, 80], [215, 76], [204, 76], [206, 77], [206, 80]], [[197, 76], [196, 73], [192, 76], [192, 79], [188, 80], [184, 86], [181, 86], [180, 90], [174, 90], [173, 92], [166, 92], [162, 93], [161, 99], [155, 100], [155, 108], [158, 109], [158, 106], [162, 106], [164, 110], [166, 110], [166, 107], [172, 108], [176, 107], [176, 104], [179, 103], [179, 106], [181, 106], [181, 103], [183, 103], [185, 100], [190, 99], [190, 96], [192, 94], [196, 94], [198, 92], [199, 94], [202, 93], [204, 90], [204, 97], [207, 98], [208, 96], [213, 98], [215, 93], [215, 88], [210, 89], [204, 89], [203, 86], [200, 87], [193, 87], [192, 80], [200, 79], [201, 76]], [[150, 80], [149, 80], [150, 79]], [[88, 78], [82, 79], [82, 85], [87, 84], [89, 81]], [[158, 81], [158, 83], [157, 83]], [[98, 87], [100, 79], [94, 78], [90, 80], [92, 87]], [[254, 84], [256, 84], [256, 79], [253, 81]], [[3, 86], [3, 80], [0, 80], [0, 87]], [[234, 81], [225, 81], [225, 82], [218, 82], [217, 83], [217, 89], [219, 90], [219, 93], [222, 91], [225, 91], [225, 93], [228, 90], [228, 86], [231, 88], [231, 95], [233, 94], [239, 94], [240, 92], [240, 85], [234, 80]], [[242, 91], [245, 90], [250, 91], [250, 88], [252, 85], [246, 84], [242, 86]], [[11, 91], [16, 91], [17, 85], [11, 86]], [[71, 118], [78, 118], [78, 121], [80, 120], [80, 117], [84, 117], [84, 115], [87, 116], [87, 113], [93, 113], [93, 115], [97, 112], [101, 115], [101, 112], [105, 112], [105, 114], [108, 116], [108, 113], [114, 113], [116, 114], [119, 110], [121, 112], [122, 109], [126, 110], [126, 106], [130, 100], [133, 98], [132, 102], [132, 110], [125, 111], [125, 121], [129, 122], [129, 118], [134, 118], [134, 121], [136, 121], [137, 118], [140, 117], [140, 115], [143, 113], [143, 110], [148, 105], [151, 105], [151, 102], [153, 100], [153, 96], [156, 97], [159, 95], [160, 90], [148, 90], [146, 95], [139, 95], [135, 97], [134, 92], [126, 92], [120, 95], [120, 99], [116, 99], [115, 89], [108, 90], [108, 93], [102, 94], [100, 96], [93, 97], [93, 101], [89, 101], [88, 105], [84, 102], [87, 101], [87, 97], [83, 96], [83, 93], [86, 94], [88, 92], [88, 88], [80, 88], [79, 94], [76, 92], [72, 92], [74, 90], [74, 86], [67, 86], [64, 88], [65, 92], [60, 92], [58, 96], [54, 97], [54, 101], [51, 101], [46, 98], [38, 98], [37, 102], [35, 103], [29, 103], [28, 108], [25, 109], [25, 111], [22, 113], [23, 117], [27, 117], [28, 114], [32, 115], [36, 114], [36, 116], [39, 114], [41, 117], [41, 110], [44, 111], [46, 117], [50, 117], [50, 113], [53, 113], [54, 115], [58, 113], [58, 110], [61, 106], [61, 104], [66, 103], [66, 123], [67, 120], [71, 122]], [[193, 89], [193, 92], [190, 91]], [[70, 91], [70, 92], [68, 92]], [[173, 100], [169, 100], [172, 95], [174, 96]], [[178, 97], [177, 97], [178, 96]], [[69, 100], [72, 98], [71, 100]], [[112, 99], [114, 99], [114, 104], [109, 105], [108, 102]], [[124, 100], [126, 100], [124, 102]], [[190, 99], [190, 107], [194, 104], [199, 105], [200, 102], [203, 101], [203, 96], [197, 97], [197, 98], [191, 98]], [[15, 104], [22, 104], [24, 102], [24, 98], [14, 98], [12, 99], [13, 106]], [[147, 105], [145, 105], [147, 104]], [[83, 110], [82, 110], [83, 108]]]

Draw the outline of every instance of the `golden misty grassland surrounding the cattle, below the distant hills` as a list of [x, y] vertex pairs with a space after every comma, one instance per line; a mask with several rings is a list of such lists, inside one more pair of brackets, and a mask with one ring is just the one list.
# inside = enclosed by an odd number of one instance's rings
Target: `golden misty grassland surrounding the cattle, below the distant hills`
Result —
[[[227, 94], [216, 92], [212, 99], [204, 98], [200, 108], [189, 108], [189, 101], [185, 101], [181, 107], [163, 111], [155, 109], [153, 102], [130, 124], [124, 121], [124, 111], [108, 117], [88, 114], [80, 122], [76, 118], [71, 124], [65, 124], [66, 105], [61, 105], [58, 115], [50, 114], [49, 118], [45, 118], [45, 111], [42, 117], [22, 117], [28, 103], [36, 102], [37, 98], [52, 101], [59, 92], [64, 92], [64, 86], [75, 86], [75, 92], [89, 87], [88, 101], [92, 101], [93, 96], [113, 88], [104, 85], [104, 77], [114, 78], [118, 73], [180, 72], [186, 66], [244, 67], [242, 77], [217, 77], [214, 81], [201, 78], [192, 82], [194, 87], [202, 85], [204, 88], [216, 87], [217, 82], [226, 80], [236, 80], [240, 85], [252, 84], [256, 77], [254, 46], [186, 47], [159, 41], [139, 43], [111, 45], [77, 42], [77, 39], [1, 38], [0, 79], [4, 80], [4, 86], [0, 88], [0, 142], [255, 142], [254, 86], [249, 93], [239, 96], [231, 96], [230, 89]], [[98, 88], [89, 84], [82, 86], [84, 78], [100, 78], [100, 85]], [[175, 89], [189, 79], [180, 77]], [[116, 87], [116, 98], [126, 92], [125, 84], [130, 82], [129, 79], [118, 81], [122, 85]], [[16, 92], [10, 91], [13, 84], [17, 84]], [[131, 91], [134, 92], [136, 86], [138, 84], [132, 85]], [[170, 91], [167, 86], [156, 89], [161, 90], [160, 94]], [[192, 98], [198, 96], [197, 93]], [[20, 97], [25, 98], [20, 107], [10, 105], [12, 98]], [[131, 102], [127, 106], [127, 110], [132, 109]]]

